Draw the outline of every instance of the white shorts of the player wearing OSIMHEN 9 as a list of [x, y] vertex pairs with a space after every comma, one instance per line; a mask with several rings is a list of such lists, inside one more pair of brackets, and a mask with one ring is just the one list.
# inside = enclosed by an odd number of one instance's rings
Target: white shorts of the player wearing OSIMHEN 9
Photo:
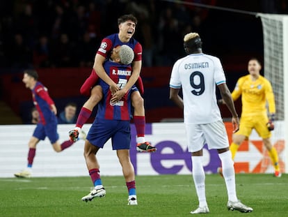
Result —
[[223, 121], [211, 124], [185, 124], [189, 152], [200, 151], [205, 144], [208, 149], [229, 147], [227, 131]]

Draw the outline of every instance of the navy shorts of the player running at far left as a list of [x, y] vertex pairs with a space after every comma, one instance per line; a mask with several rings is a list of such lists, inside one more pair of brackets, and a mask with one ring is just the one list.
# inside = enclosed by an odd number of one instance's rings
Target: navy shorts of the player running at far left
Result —
[[33, 137], [38, 138], [38, 140], [45, 140], [45, 137], [48, 137], [51, 144], [54, 144], [59, 139], [59, 135], [57, 133], [57, 122], [52, 121], [46, 125], [37, 124]]

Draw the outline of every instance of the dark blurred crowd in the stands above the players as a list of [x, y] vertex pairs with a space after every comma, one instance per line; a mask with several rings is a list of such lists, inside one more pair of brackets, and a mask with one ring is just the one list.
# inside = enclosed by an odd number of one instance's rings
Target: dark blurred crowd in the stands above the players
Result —
[[[287, 1], [260, 2], [263, 11], [279, 11], [279, 2], [287, 11]], [[92, 67], [99, 42], [118, 32], [117, 18], [127, 13], [138, 18], [134, 38], [143, 45], [143, 66], [172, 66], [184, 55], [184, 34], [201, 34], [211, 10], [161, 0], [0, 1], [0, 68]]]

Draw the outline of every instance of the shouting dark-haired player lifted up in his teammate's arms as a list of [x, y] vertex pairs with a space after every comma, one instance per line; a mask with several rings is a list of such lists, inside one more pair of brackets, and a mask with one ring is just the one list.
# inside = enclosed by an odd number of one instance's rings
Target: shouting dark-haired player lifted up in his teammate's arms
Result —
[[[143, 84], [141, 78], [139, 77], [142, 66], [142, 46], [140, 43], [138, 43], [137, 40], [132, 38], [135, 33], [136, 24], [137, 19], [134, 17], [134, 15], [122, 15], [118, 18], [119, 33], [107, 36], [102, 40], [102, 43], [95, 56], [94, 66], [90, 77], [88, 77], [86, 82], [84, 82], [80, 90], [83, 95], [90, 96], [90, 98], [81, 108], [74, 130], [71, 130], [69, 133], [71, 140], [74, 140], [75, 138], [77, 139], [78, 132], [90, 117], [90, 114], [92, 113], [95, 105], [97, 105], [97, 103], [99, 103], [103, 97], [101, 87], [96, 85], [99, 77], [102, 78], [104, 82], [109, 84], [113, 93], [113, 100], [120, 100], [120, 98], [122, 98], [122, 96], [124, 96], [125, 93], [129, 91], [129, 89], [136, 83], [136, 81], [138, 81], [138, 89], [140, 89], [143, 93]], [[135, 58], [132, 63], [133, 73], [127, 82], [127, 85], [123, 89], [119, 89], [115, 82], [111, 80], [109, 75], [106, 75], [103, 68], [103, 63], [109, 59], [113, 47], [118, 45], [128, 45], [134, 50], [135, 54]], [[131, 93], [131, 100], [134, 107], [134, 124], [137, 133], [137, 150], [144, 152], [154, 152], [156, 151], [156, 148], [152, 147], [149, 142], [145, 141], [145, 109], [143, 98], [141, 97], [139, 91], [133, 91], [133, 93]]]

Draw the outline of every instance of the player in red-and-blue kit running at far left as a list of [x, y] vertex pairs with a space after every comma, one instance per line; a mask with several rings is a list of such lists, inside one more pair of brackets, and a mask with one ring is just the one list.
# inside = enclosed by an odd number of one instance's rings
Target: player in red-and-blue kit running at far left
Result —
[[33, 160], [36, 153], [36, 146], [40, 140], [48, 137], [54, 151], [60, 152], [70, 147], [74, 142], [67, 140], [59, 142], [57, 133], [57, 109], [54, 101], [49, 96], [48, 90], [41, 82], [38, 82], [38, 73], [35, 70], [25, 70], [22, 80], [26, 88], [31, 89], [33, 103], [38, 110], [39, 120], [34, 133], [29, 140], [28, 164], [26, 169], [15, 173], [15, 177], [31, 177]]

